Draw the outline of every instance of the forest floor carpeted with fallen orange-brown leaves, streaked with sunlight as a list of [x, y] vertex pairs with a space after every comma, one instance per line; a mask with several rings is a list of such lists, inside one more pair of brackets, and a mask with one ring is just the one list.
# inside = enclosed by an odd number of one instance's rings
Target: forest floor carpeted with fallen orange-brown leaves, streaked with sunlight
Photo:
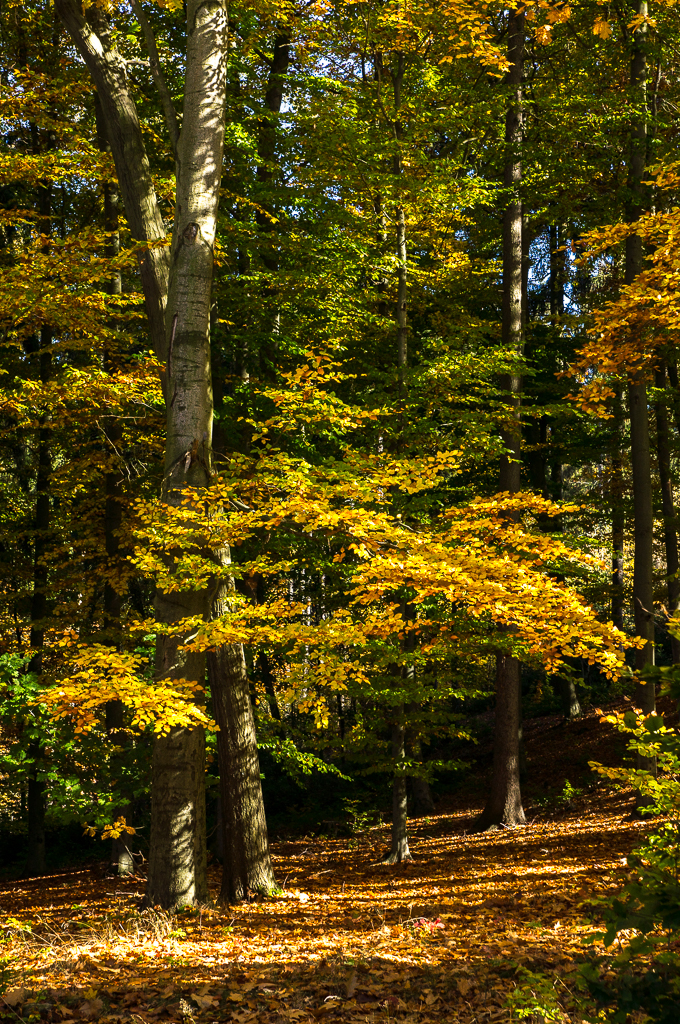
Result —
[[462, 791], [411, 822], [408, 865], [379, 863], [386, 825], [274, 842], [283, 897], [172, 918], [138, 912], [141, 877], [2, 884], [0, 1019], [485, 1024], [546, 986], [568, 1010], [593, 900], [621, 888], [649, 824], [630, 794], [563, 793], [593, 781], [589, 759], [621, 756], [596, 713], [527, 733], [529, 823], [471, 835], [480, 805]]

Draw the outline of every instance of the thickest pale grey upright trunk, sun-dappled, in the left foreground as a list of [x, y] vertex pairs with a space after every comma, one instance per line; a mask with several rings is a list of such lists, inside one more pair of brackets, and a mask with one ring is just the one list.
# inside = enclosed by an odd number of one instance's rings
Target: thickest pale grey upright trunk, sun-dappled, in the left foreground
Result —
[[[186, 31], [166, 311], [164, 493], [169, 504], [181, 503], [186, 484], [204, 486], [211, 476], [210, 302], [224, 141], [225, 4], [189, 2]], [[168, 624], [195, 615], [207, 618], [211, 597], [208, 590], [159, 591], [157, 618]], [[202, 683], [205, 656], [182, 650], [176, 636], [159, 637], [156, 674]], [[174, 729], [156, 739], [146, 887], [151, 904], [175, 906], [207, 898], [204, 753], [202, 729]]]

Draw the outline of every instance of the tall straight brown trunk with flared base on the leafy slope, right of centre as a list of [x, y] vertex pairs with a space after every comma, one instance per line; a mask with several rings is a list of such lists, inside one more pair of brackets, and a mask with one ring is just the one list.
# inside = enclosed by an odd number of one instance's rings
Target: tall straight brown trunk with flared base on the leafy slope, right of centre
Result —
[[[509, 12], [506, 78], [511, 98], [505, 122], [506, 159], [504, 184], [510, 199], [503, 215], [503, 319], [505, 351], [520, 354], [523, 340], [522, 205], [519, 184], [522, 176], [522, 78], [524, 70], [524, 15]], [[508, 393], [509, 422], [502, 430], [508, 454], [501, 459], [500, 490], [515, 493], [520, 487], [521, 427], [519, 406], [521, 375], [504, 375], [501, 387]], [[475, 827], [522, 824], [525, 821], [520, 796], [521, 672], [516, 657], [499, 651], [496, 655], [496, 728], [494, 766], [490, 795]]]

